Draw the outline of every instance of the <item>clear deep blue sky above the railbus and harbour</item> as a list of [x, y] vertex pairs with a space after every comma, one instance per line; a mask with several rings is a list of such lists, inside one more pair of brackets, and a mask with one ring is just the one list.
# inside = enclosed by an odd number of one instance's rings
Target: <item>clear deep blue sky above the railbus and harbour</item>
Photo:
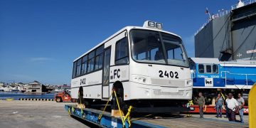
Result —
[[193, 35], [238, 0], [1, 0], [0, 81], [70, 84], [73, 60], [124, 26], [164, 23], [194, 56]]

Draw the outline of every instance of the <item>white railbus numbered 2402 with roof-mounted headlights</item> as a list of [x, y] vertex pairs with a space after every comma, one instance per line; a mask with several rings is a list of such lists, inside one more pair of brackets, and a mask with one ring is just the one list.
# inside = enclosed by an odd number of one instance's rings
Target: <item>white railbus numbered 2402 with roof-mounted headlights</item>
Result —
[[[124, 101], [167, 105], [192, 97], [191, 73], [180, 36], [145, 21], [127, 26], [73, 61], [71, 96], [106, 101], [122, 82]], [[157, 103], [158, 102], [158, 103]]]

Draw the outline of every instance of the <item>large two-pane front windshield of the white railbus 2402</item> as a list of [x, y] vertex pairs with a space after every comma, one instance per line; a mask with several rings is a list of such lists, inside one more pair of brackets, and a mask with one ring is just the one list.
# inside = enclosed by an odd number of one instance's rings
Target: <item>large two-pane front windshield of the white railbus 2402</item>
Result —
[[138, 63], [156, 63], [188, 67], [181, 38], [158, 31], [130, 31], [132, 58]]

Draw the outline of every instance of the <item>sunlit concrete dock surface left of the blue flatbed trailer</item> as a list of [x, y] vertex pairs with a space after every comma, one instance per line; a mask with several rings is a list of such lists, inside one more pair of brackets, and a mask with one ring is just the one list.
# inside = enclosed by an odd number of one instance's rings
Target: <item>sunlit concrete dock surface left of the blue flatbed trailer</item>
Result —
[[64, 105], [72, 102], [55, 101], [0, 101], [0, 127], [5, 128], [60, 128], [90, 127], [68, 116]]

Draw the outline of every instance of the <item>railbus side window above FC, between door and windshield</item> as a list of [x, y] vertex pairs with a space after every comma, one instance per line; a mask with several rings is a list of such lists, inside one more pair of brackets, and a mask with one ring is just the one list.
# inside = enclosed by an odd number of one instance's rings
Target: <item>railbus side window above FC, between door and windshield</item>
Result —
[[126, 37], [122, 38], [116, 43], [114, 63], [115, 64], [128, 63], [128, 42]]

